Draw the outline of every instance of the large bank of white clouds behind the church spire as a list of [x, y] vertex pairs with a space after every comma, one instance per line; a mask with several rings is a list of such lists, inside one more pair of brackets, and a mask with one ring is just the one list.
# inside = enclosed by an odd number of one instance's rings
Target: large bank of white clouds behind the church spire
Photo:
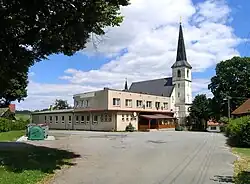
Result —
[[[131, 3], [121, 10], [125, 17], [122, 25], [107, 28], [107, 34], [98, 45], [98, 52], [92, 43], [88, 43], [82, 51], [83, 54], [101, 54], [114, 59], [97, 70], [69, 68], [60, 77], [68, 81], [68, 85], [31, 83], [29, 97], [21, 106], [34, 104], [32, 101], [37, 100], [36, 96], [46, 96], [41, 92], [44, 90], [51, 103], [57, 95], [69, 98], [77, 91], [104, 86], [122, 88], [125, 78], [132, 82], [170, 76], [176, 57], [180, 16], [193, 71], [203, 72], [221, 60], [239, 55], [236, 47], [243, 40], [234, 35], [232, 27], [226, 25], [232, 17], [224, 0], [207, 0], [196, 6], [191, 0], [157, 0], [157, 3], [155, 0], [132, 0]], [[121, 55], [124, 49], [126, 52]], [[194, 79], [195, 94], [208, 92], [204, 80], [208, 79]], [[37, 103], [39, 107], [48, 104]]]

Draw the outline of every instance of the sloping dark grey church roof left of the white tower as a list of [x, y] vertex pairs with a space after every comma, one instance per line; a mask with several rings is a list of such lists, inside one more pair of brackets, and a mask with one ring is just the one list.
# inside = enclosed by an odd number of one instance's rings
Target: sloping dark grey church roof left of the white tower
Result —
[[150, 95], [170, 97], [174, 86], [172, 77], [133, 82], [129, 91], [136, 93], [147, 93]]

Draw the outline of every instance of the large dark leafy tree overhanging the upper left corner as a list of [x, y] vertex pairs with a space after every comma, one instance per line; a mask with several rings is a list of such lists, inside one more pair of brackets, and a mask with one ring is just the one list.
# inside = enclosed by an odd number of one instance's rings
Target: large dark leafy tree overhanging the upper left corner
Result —
[[128, 4], [129, 0], [1, 1], [1, 106], [27, 96], [30, 66], [51, 54], [71, 56], [85, 48], [91, 35], [103, 35], [105, 27], [122, 22], [120, 6]]

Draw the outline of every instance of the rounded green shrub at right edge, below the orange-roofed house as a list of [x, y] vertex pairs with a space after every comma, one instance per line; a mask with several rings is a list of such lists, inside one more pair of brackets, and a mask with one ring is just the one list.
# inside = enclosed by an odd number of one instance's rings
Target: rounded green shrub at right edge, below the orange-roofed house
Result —
[[234, 146], [250, 147], [250, 116], [230, 120], [226, 136]]

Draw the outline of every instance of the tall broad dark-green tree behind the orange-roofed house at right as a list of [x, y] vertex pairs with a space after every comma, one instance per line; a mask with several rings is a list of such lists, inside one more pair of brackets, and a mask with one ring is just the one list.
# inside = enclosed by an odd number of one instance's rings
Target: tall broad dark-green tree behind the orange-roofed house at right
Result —
[[214, 95], [216, 106], [221, 115], [227, 116], [225, 98], [232, 97], [231, 110], [235, 110], [250, 98], [250, 58], [233, 57], [216, 66], [216, 75], [211, 78], [208, 89]]

